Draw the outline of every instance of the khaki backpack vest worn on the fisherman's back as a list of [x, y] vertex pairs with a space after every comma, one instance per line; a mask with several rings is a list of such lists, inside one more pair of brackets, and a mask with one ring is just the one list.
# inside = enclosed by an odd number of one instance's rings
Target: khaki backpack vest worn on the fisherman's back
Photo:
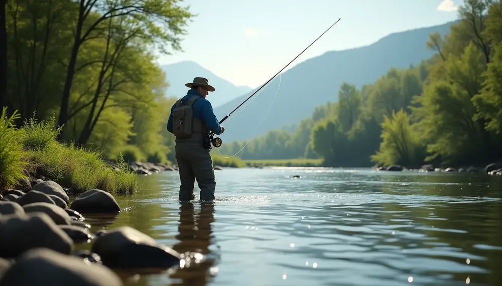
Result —
[[[176, 101], [176, 107], [173, 109], [173, 134], [176, 136], [176, 141], [191, 141], [193, 133], [198, 133], [197, 138], [202, 138], [200, 135], [205, 135], [209, 132], [204, 122], [193, 117], [193, 103], [201, 98], [200, 96], [192, 96], [183, 104], [181, 98]], [[179, 140], [181, 139], [181, 140]], [[186, 139], [186, 140], [184, 140]], [[193, 138], [196, 139], [196, 138]], [[196, 140], [199, 141], [199, 140]]]

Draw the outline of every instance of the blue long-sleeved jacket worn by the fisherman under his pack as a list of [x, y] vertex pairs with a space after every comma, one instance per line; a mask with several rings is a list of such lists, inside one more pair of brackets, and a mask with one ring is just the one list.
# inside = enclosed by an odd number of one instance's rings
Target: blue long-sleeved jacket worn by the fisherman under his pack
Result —
[[[192, 105], [193, 117], [202, 120], [206, 127], [214, 132], [214, 134], [221, 134], [221, 126], [218, 123], [218, 119], [216, 119], [216, 115], [214, 115], [211, 103], [207, 99], [203, 98], [198, 91], [193, 89], [188, 90], [187, 95], [181, 98], [181, 102], [183, 104], [186, 103], [192, 96], [201, 97], [197, 99]], [[171, 115], [169, 115], [169, 120], [167, 121], [167, 131], [171, 133], [173, 133], [173, 110], [175, 108], [176, 103], [171, 107]]]

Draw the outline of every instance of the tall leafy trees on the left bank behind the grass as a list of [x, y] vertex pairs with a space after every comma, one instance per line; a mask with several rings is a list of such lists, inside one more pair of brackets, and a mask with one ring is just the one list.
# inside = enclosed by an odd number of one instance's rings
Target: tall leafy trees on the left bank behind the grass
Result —
[[[135, 146], [138, 160], [168, 162], [173, 142], [163, 131], [172, 103], [152, 48], [180, 50], [194, 15], [171, 0], [83, 3], [7, 1], [7, 101], [25, 122], [24, 147], [45, 148], [59, 134], [106, 158]], [[35, 129], [53, 125], [60, 127], [52, 133]]]

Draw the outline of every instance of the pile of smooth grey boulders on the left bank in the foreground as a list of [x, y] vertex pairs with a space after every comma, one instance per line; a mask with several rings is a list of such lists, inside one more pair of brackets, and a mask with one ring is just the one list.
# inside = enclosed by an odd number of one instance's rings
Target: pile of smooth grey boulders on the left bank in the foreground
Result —
[[[91, 233], [86, 215], [122, 211], [108, 192], [90, 189], [70, 199], [70, 190], [53, 181], [24, 185], [0, 195], [0, 286], [123, 285], [114, 269], [161, 271], [201, 259], [129, 226]], [[76, 250], [80, 243], [91, 250]]]

